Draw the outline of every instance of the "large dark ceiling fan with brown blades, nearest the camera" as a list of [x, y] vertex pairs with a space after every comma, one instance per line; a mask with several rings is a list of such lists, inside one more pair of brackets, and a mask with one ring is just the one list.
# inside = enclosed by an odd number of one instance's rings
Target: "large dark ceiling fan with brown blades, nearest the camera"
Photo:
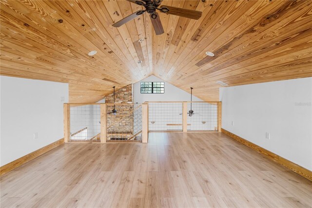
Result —
[[190, 10], [190, 9], [183, 9], [179, 7], [174, 6], [166, 6], [166, 5], [160, 5], [162, 0], [127, 0], [131, 3], [136, 3], [137, 5], [145, 7], [145, 10], [139, 10], [132, 15], [129, 15], [128, 17], [125, 17], [124, 19], [117, 21], [113, 24], [114, 27], [120, 27], [121, 25], [127, 23], [128, 21], [131, 21], [138, 16], [142, 15], [144, 12], [147, 12], [150, 14], [150, 18], [153, 24], [153, 27], [155, 29], [156, 35], [161, 35], [164, 33], [164, 29], [162, 27], [159, 14], [156, 12], [156, 10], [159, 10], [160, 12], [169, 14], [169, 15], [176, 15], [180, 17], [190, 18], [194, 20], [198, 20], [201, 17], [200, 11]]

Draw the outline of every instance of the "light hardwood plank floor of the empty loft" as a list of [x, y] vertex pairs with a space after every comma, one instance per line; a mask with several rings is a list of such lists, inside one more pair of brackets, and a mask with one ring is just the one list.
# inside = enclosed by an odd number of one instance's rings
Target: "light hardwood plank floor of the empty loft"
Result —
[[312, 182], [221, 133], [64, 144], [1, 177], [4, 207], [311, 207]]

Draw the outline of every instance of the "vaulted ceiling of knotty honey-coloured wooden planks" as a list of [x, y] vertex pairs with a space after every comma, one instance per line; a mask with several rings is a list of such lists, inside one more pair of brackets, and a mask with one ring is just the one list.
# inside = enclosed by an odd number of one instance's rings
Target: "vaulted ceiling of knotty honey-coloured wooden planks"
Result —
[[[159, 36], [146, 14], [111, 26], [142, 9], [124, 0], [0, 3], [1, 75], [69, 83], [70, 102], [96, 102], [112, 86], [152, 74], [187, 91], [193, 86], [206, 101], [218, 100], [219, 80], [231, 86], [312, 76], [311, 0], [164, 0], [203, 15], [160, 14]], [[98, 53], [88, 56], [92, 50]]]

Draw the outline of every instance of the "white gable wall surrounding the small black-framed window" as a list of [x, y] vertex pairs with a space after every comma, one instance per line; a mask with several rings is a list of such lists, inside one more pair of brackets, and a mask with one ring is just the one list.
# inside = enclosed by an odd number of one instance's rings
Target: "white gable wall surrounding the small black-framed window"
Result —
[[[141, 91], [140, 91], [141, 82], [164, 82], [165, 93], [163, 94], [141, 94]], [[195, 90], [196, 89], [193, 89], [193, 92]], [[184, 90], [152, 75], [133, 85], [133, 99], [134, 99], [134, 103], [144, 103], [146, 101], [190, 101], [191, 89], [190, 89], [190, 93], [187, 93]], [[193, 101], [202, 101], [202, 100], [193, 96]]]

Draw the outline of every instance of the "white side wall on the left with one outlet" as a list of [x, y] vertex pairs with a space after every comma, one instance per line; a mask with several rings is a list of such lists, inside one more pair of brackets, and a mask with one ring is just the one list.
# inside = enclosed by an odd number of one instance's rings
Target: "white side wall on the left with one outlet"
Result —
[[64, 137], [67, 83], [0, 76], [0, 86], [0, 166]]

